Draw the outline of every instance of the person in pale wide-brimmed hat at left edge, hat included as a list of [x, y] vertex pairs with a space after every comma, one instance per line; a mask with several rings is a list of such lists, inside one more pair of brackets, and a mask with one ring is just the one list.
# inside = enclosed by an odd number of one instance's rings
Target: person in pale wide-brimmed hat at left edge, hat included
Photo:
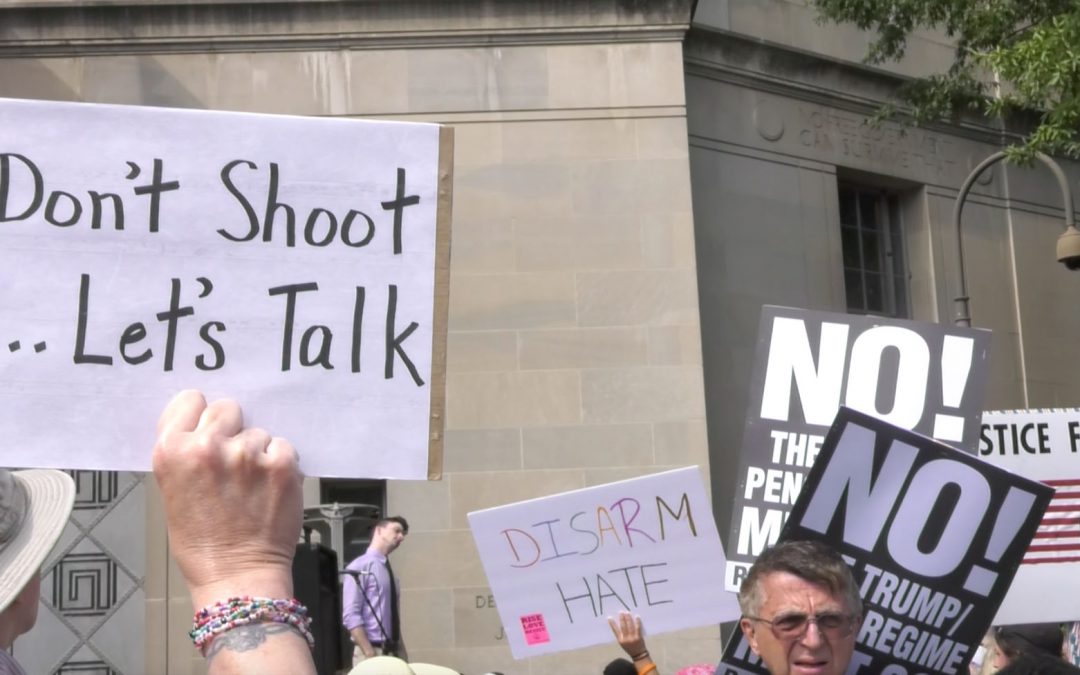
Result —
[[25, 675], [12, 643], [33, 627], [41, 566], [75, 505], [75, 482], [63, 471], [0, 469], [0, 673]]

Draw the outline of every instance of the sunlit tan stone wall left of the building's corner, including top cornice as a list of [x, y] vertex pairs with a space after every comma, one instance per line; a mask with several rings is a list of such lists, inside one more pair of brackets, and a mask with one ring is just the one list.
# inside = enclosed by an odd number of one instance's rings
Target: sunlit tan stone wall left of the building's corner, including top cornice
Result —
[[[599, 672], [613, 645], [513, 661], [465, 514], [673, 467], [707, 475], [689, 16], [681, 0], [0, 3], [5, 96], [454, 125], [445, 475], [388, 486], [413, 526], [394, 567], [416, 660]], [[201, 673], [147, 517], [147, 671]], [[674, 672], [715, 661], [718, 637], [650, 648]]]

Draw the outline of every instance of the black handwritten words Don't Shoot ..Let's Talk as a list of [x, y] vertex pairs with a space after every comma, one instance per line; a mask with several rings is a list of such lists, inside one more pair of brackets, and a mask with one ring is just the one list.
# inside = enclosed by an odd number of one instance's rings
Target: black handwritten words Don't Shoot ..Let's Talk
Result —
[[[82, 225], [90, 231], [111, 229], [116, 232], [122, 232], [125, 231], [125, 228], [130, 229], [134, 213], [145, 213], [145, 224], [140, 220], [137, 229], [132, 230], [132, 235], [141, 235], [143, 230], [146, 234], [158, 234], [162, 231], [163, 221], [172, 227], [180, 227], [175, 222], [175, 219], [163, 217], [167, 215], [163, 197], [181, 189], [180, 180], [172, 179], [172, 177], [166, 179], [164, 161], [160, 158], [153, 159], [153, 168], [148, 178], [143, 176], [143, 170], [138, 163], [127, 161], [120, 164], [120, 166], [124, 165], [126, 167], [123, 177], [133, 183], [130, 186], [131, 194], [126, 194], [123, 190], [108, 192], [95, 189], [87, 189], [82, 194], [76, 191], [50, 189], [48, 176], [33, 159], [16, 152], [2, 152], [0, 153], [0, 224], [43, 219], [49, 226], [60, 230]], [[237, 174], [241, 167], [254, 178], [240, 180]], [[229, 162], [220, 171], [220, 183], [235, 201], [233, 213], [239, 216], [238, 220], [243, 221], [243, 226], [233, 228], [231, 225], [227, 225], [220, 227], [216, 230], [217, 235], [233, 243], [253, 241], [271, 243], [282, 240], [286, 247], [296, 246], [298, 233], [302, 243], [314, 247], [324, 247], [339, 240], [340, 244], [346, 247], [361, 248], [370, 245], [375, 240], [377, 230], [375, 219], [355, 208], [348, 210], [339, 218], [329, 208], [311, 207], [307, 216], [302, 218], [303, 225], [298, 232], [298, 219], [301, 219], [298, 218], [298, 215], [302, 216], [302, 214], [298, 214], [297, 207], [280, 197], [282, 183], [280, 173], [280, 167], [274, 162], [269, 163], [265, 178], [262, 177], [262, 167], [254, 162], [246, 160]], [[143, 183], [144, 180], [145, 183]], [[265, 180], [265, 185], [261, 185], [262, 180]], [[404, 168], [396, 170], [395, 186], [393, 197], [380, 201], [377, 208], [389, 214], [391, 227], [380, 229], [389, 229], [388, 239], [391, 241], [387, 242], [387, 245], [392, 246], [392, 255], [400, 256], [403, 253], [404, 211], [406, 207], [419, 204], [420, 198], [417, 194], [408, 193]], [[255, 194], [260, 194], [260, 199], [256, 199]], [[183, 195], [177, 197], [177, 199]], [[171, 222], [171, 220], [173, 221]], [[85, 272], [79, 274], [78, 278], [78, 301], [71, 348], [73, 364], [111, 366], [123, 362], [129, 366], [138, 366], [152, 362], [160, 355], [158, 360], [162, 372], [174, 370], [179, 333], [186, 329], [186, 324], [195, 321], [198, 314], [197, 301], [185, 302], [181, 300], [181, 291], [185, 287], [181, 279], [173, 278], [170, 280], [167, 309], [154, 312], [150, 316], [160, 324], [158, 335], [156, 335], [152, 322], [140, 320], [129, 323], [119, 332], [119, 335], [103, 336], [100, 332], [95, 332], [93, 326], [95, 319], [95, 314], [91, 312], [93, 278]], [[214, 292], [215, 284], [211, 279], [198, 276], [194, 282], [197, 283], [189, 282], [187, 285], [195, 286], [195, 300], [208, 298]], [[381, 288], [378, 291], [381, 292]], [[282, 308], [279, 310], [282, 316], [281, 370], [288, 372], [296, 365], [333, 370], [337, 365], [335, 361], [345, 361], [347, 356], [350, 372], [361, 373], [361, 354], [364, 343], [362, 328], [365, 309], [368, 307], [368, 287], [355, 286], [351, 306], [341, 308], [342, 313], [351, 318], [347, 352], [334, 348], [335, 334], [329, 325], [324, 323], [307, 326], [297, 325], [297, 305], [301, 294], [303, 297], [308, 297], [307, 294], [318, 292], [319, 284], [313, 281], [285, 284], [267, 289], [269, 297], [281, 296], [284, 299]], [[184, 295], [190, 297], [192, 293]], [[407, 369], [413, 382], [417, 387], [423, 386], [426, 383], [423, 378], [404, 348], [405, 340], [418, 328], [419, 324], [415, 321], [400, 322], [397, 318], [399, 286], [396, 284], [388, 284], [384, 296], [383, 377], [386, 379], [394, 377], [394, 366], [400, 361]], [[404, 325], [400, 327], [401, 323]], [[227, 364], [226, 347], [229, 343], [225, 335], [228, 332], [227, 323], [220, 318], [214, 318], [197, 322], [191, 325], [190, 329], [198, 334], [198, 343], [204, 348], [204, 351], [193, 354], [191, 357], [191, 364], [194, 368], [212, 372], [225, 367]], [[0, 336], [0, 338], [2, 337]], [[339, 339], [340, 341], [342, 340]], [[41, 353], [48, 349], [48, 346], [45, 340], [35, 341], [33, 350], [36, 353]], [[22, 347], [22, 340], [9, 338], [9, 352], [18, 352]], [[243, 349], [243, 346], [237, 345], [233, 349], [240, 350]], [[339, 357], [334, 356], [335, 351], [340, 352]]]

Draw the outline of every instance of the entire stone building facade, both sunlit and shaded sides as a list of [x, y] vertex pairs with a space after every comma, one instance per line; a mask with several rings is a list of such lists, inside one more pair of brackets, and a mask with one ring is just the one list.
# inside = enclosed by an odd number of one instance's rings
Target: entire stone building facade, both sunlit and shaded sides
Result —
[[[468, 512], [697, 464], [724, 532], [762, 303], [950, 320], [953, 200], [998, 135], [866, 126], [948, 45], [919, 36], [908, 60], [866, 68], [865, 36], [808, 5], [0, 0], [0, 94], [454, 125], [444, 476], [391, 482], [379, 504], [413, 526], [394, 558], [404, 630], [416, 660], [584, 675], [615, 646], [511, 658]], [[1039, 171], [1003, 166], [969, 200], [988, 407], [1080, 399], [1059, 204]], [[846, 227], [875, 232], [887, 273], [848, 265]], [[17, 657], [204, 672], [152, 478], [79, 484]], [[309, 481], [310, 504], [326, 495]], [[649, 646], [675, 672], [715, 661], [719, 636]]]

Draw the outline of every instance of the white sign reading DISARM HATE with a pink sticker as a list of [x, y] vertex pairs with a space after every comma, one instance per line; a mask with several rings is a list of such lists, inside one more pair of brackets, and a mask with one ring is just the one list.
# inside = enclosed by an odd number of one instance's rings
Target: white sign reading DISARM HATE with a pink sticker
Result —
[[612, 642], [607, 617], [650, 634], [739, 617], [696, 467], [469, 514], [515, 659]]

